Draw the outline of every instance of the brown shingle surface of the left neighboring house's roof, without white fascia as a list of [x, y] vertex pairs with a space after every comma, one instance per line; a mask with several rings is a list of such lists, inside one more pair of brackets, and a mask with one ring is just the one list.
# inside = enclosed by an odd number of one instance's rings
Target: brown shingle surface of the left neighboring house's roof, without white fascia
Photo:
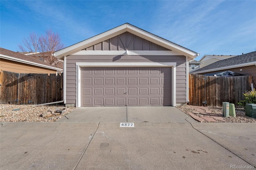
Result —
[[[45, 65], [45, 66], [48, 66], [48, 67], [49, 66], [54, 67], [53, 65], [50, 65], [50, 64], [48, 64], [44, 61], [40, 61], [39, 59], [36, 59], [34, 57], [24, 55], [24, 54], [21, 54], [21, 53], [18, 53], [18, 52], [10, 51], [8, 49], [4, 49], [4, 48], [1, 48], [1, 47], [0, 47], [0, 54], [7, 55], [9, 57], [14, 57], [14, 58], [17, 58], [17, 59], [23, 59], [23, 60], [26, 60], [26, 61], [42, 64], [42, 65]], [[54, 68], [59, 69], [57, 67], [54, 67]]]

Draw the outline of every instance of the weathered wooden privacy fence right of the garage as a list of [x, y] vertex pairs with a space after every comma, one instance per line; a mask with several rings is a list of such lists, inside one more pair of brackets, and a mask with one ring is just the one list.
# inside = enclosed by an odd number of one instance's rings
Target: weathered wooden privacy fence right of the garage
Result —
[[251, 90], [252, 76], [215, 77], [189, 74], [189, 101], [196, 106], [222, 106], [222, 102], [244, 100], [243, 93]]

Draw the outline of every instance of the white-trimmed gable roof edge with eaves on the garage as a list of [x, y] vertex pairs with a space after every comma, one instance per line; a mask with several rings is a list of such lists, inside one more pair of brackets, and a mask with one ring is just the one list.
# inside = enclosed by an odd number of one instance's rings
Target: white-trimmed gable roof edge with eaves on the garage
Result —
[[73, 53], [76, 53], [82, 49], [85, 49], [94, 44], [100, 43], [102, 41], [108, 40], [114, 36], [118, 36], [119, 34], [122, 34], [124, 32], [130, 32], [131, 34], [134, 34], [136, 36], [144, 38], [145, 40], [156, 43], [157, 45], [161, 45], [162, 47], [165, 47], [172, 51], [176, 51], [176, 52], [180, 53], [181, 55], [188, 56], [190, 59], [195, 58], [199, 55], [198, 53], [196, 53], [190, 49], [182, 47], [176, 43], [170, 42], [168, 40], [165, 40], [164, 38], [160, 38], [159, 36], [151, 34], [150, 32], [147, 32], [147, 31], [142, 30], [136, 26], [126, 23], [126, 24], [123, 24], [116, 28], [113, 28], [111, 30], [108, 30], [106, 32], [103, 32], [102, 34], [98, 34], [92, 38], [84, 40], [82, 42], [76, 43], [76, 44], [66, 47], [64, 49], [56, 51], [54, 53], [54, 56], [58, 57], [60, 59], [63, 59], [64, 56], [72, 55]]

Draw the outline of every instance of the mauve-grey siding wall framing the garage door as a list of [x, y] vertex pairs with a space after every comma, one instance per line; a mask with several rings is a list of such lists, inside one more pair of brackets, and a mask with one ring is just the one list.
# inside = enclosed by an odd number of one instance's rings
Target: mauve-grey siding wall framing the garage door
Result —
[[186, 103], [186, 57], [183, 55], [69, 55], [66, 57], [66, 104], [76, 104], [76, 62], [176, 62], [176, 103]]

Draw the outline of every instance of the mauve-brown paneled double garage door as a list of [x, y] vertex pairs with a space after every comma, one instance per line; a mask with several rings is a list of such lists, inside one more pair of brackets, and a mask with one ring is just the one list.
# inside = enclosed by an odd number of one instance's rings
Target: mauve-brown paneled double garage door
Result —
[[82, 67], [81, 106], [170, 106], [171, 67]]

